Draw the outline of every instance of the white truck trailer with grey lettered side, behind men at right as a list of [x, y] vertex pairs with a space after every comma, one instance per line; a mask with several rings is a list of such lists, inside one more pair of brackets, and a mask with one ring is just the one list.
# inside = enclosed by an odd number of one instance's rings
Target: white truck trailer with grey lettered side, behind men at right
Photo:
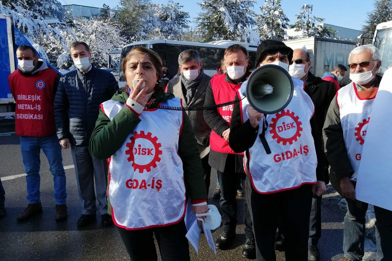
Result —
[[[307, 37], [295, 40], [287, 40], [284, 43], [291, 49], [306, 47], [312, 66], [310, 72], [320, 78], [335, 65], [343, 64], [347, 67], [348, 54], [355, 48], [355, 42], [332, 40], [320, 37]], [[348, 69], [348, 68], [347, 68]], [[349, 74], [339, 81], [341, 86], [348, 83]]]

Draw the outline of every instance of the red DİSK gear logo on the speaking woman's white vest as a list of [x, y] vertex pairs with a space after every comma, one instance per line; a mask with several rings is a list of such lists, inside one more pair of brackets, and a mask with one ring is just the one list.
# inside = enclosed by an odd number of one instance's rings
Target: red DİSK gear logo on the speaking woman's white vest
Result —
[[159, 156], [162, 155], [158, 138], [152, 137], [151, 132], [145, 134], [141, 130], [140, 133], [135, 131], [129, 139], [131, 142], [127, 143], [128, 150], [125, 154], [129, 155], [128, 161], [132, 161], [134, 171], [139, 170], [139, 173], [143, 173], [144, 170], [150, 172], [151, 168], [156, 168], [156, 163], [161, 161]]

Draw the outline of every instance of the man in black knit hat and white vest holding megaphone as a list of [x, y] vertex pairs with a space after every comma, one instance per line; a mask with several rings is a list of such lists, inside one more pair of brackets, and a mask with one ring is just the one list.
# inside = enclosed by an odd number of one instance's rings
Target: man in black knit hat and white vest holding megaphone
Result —
[[304, 83], [287, 72], [292, 55], [281, 41], [261, 42], [258, 69], [238, 91], [237, 98], [246, 99], [234, 105], [230, 123], [230, 147], [246, 152], [245, 195], [258, 261], [276, 260], [278, 215], [286, 260], [307, 260], [312, 192], [326, 190], [314, 105]]

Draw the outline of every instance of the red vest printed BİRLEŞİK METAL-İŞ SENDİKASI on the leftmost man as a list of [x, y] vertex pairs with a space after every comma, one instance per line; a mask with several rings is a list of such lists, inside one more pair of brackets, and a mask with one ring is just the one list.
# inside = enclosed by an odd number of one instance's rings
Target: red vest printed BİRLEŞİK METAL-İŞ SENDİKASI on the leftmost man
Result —
[[57, 72], [45, 69], [34, 76], [19, 70], [8, 76], [16, 101], [15, 132], [18, 136], [46, 137], [55, 134], [54, 90]]

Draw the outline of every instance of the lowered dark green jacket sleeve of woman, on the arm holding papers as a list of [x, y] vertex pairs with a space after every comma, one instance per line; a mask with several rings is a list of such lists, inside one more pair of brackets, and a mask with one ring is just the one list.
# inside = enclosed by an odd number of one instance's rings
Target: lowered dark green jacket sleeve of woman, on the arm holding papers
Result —
[[192, 129], [191, 121], [183, 114], [183, 125], [178, 141], [178, 154], [182, 160], [185, 189], [191, 199], [206, 199], [204, 170], [201, 166], [199, 149]]

